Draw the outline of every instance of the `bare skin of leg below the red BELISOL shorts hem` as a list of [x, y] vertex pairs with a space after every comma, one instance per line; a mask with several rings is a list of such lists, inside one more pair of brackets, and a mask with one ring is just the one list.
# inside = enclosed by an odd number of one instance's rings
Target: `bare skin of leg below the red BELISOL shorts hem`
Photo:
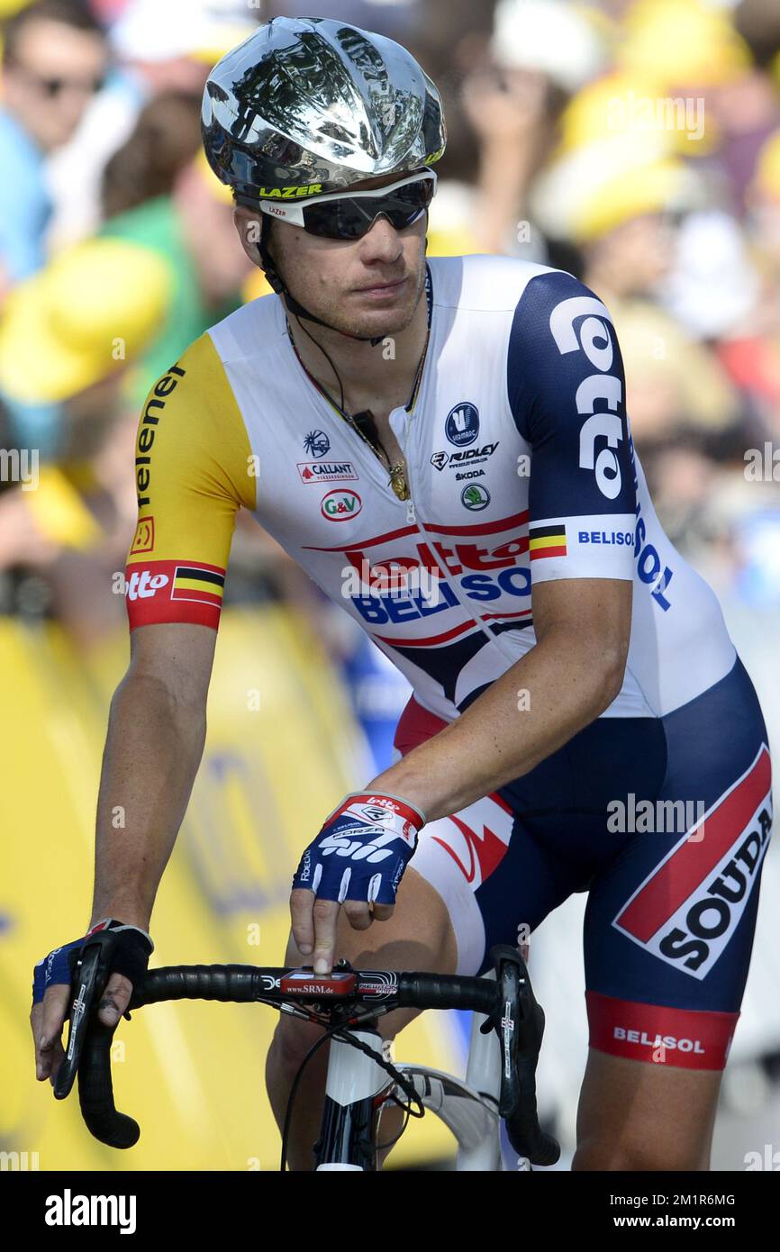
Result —
[[588, 1049], [572, 1169], [709, 1169], [721, 1079]]

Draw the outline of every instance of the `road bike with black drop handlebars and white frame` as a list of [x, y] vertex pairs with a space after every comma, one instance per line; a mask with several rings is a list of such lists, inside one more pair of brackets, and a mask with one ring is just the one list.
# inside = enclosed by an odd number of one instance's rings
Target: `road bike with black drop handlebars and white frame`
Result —
[[[73, 985], [65, 1059], [54, 1084], [64, 1099], [78, 1075], [88, 1129], [113, 1148], [130, 1148], [140, 1128], [114, 1104], [110, 1048], [115, 1027], [94, 1015], [110, 968], [113, 936], [103, 931], [84, 944]], [[557, 1141], [545, 1133], [536, 1108], [536, 1067], [545, 1014], [533, 995], [521, 953], [491, 949], [493, 969], [483, 978], [397, 970], [353, 969], [338, 962], [328, 975], [312, 968], [170, 965], [151, 969], [133, 990], [126, 1015], [162, 1000], [203, 999], [268, 1004], [323, 1027], [293, 1082], [282, 1136], [282, 1171], [295, 1094], [314, 1052], [331, 1040], [314, 1171], [377, 1169], [382, 1111], [392, 1104], [409, 1117], [438, 1116], [457, 1143], [458, 1171], [503, 1169], [501, 1121], [517, 1168], [555, 1164]], [[389, 1059], [377, 1022], [397, 1008], [467, 1009], [472, 1020], [466, 1078]], [[399, 1134], [396, 1136], [399, 1138]], [[394, 1142], [394, 1141], [393, 1141]]]

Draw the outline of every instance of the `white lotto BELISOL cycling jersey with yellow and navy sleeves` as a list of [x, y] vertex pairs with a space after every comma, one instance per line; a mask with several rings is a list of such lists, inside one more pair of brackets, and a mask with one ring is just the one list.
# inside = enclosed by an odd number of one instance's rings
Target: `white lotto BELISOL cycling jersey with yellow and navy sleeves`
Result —
[[217, 627], [244, 505], [444, 720], [533, 647], [533, 586], [551, 578], [634, 582], [625, 681], [602, 716], [692, 700], [735, 650], [655, 515], [608, 310], [571, 274], [505, 257], [431, 258], [428, 288], [419, 387], [389, 418], [409, 501], [302, 368], [277, 295], [157, 383], [139, 423], [131, 627]]

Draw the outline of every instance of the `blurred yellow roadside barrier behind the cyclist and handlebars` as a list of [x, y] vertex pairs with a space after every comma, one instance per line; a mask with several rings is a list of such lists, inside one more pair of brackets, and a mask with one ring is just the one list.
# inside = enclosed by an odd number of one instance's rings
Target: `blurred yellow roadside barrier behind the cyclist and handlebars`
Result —
[[[84, 661], [59, 627], [0, 618], [0, 1149], [20, 1154], [6, 1167], [41, 1171], [275, 1169], [263, 1079], [273, 1009], [170, 1003], [120, 1023], [116, 1104], [141, 1123], [126, 1152], [89, 1136], [75, 1092], [58, 1104], [35, 1080], [33, 964], [89, 918], [108, 705], [126, 656], [124, 635]], [[208, 721], [157, 900], [151, 963], [282, 964], [293, 869], [323, 816], [364, 781], [361, 740], [317, 641], [277, 607], [223, 613]], [[399, 1058], [457, 1072], [441, 1014], [423, 1014], [396, 1047]], [[452, 1151], [429, 1114], [409, 1124], [391, 1162]]]

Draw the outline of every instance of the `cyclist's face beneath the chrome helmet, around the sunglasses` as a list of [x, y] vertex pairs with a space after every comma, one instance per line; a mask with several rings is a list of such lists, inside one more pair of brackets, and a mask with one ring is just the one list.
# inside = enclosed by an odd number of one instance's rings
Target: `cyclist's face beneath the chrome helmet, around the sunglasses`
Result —
[[[403, 174], [383, 174], [352, 190], [399, 178]], [[240, 208], [235, 214], [244, 249], [257, 263], [257, 247], [245, 239], [259, 214]], [[427, 214], [406, 230], [377, 218], [362, 239], [323, 239], [274, 218], [268, 247], [290, 294], [323, 322], [347, 334], [398, 334], [411, 323], [424, 288], [426, 227]]]

